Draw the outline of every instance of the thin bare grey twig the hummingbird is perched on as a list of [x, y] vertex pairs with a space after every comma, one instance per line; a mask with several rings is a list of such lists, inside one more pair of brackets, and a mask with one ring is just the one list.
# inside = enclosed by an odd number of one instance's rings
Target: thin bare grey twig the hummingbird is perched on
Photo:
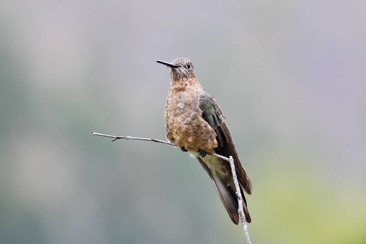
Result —
[[[96, 133], [96, 132], [93, 132], [93, 131], [91, 132], [91, 135], [92, 136], [105, 136], [105, 137], [114, 138], [112, 140], [112, 142], [114, 142], [117, 139], [147, 140], [147, 141], [150, 141], [150, 142], [160, 142], [160, 143], [165, 143], [165, 144], [169, 144], [169, 145], [172, 145], [172, 146], [176, 146], [172, 142], [167, 142], [165, 140], [158, 140], [158, 139], [154, 139], [154, 138], [138, 138], [138, 137], [132, 137], [132, 136], [111, 136], [111, 135], [99, 134], [99, 133]], [[242, 226], [243, 226], [246, 242], [247, 242], [247, 244], [251, 244], [251, 241], [250, 241], [250, 238], [249, 238], [249, 233], [248, 233], [247, 221], [246, 221], [245, 215], [244, 215], [243, 198], [242, 198], [242, 194], [240, 193], [238, 178], [236, 177], [234, 159], [232, 158], [232, 156], [230, 156], [230, 158], [227, 158], [227, 157], [224, 157], [224, 156], [216, 154], [216, 153], [207, 153], [207, 154], [218, 157], [218, 158], [221, 158], [221, 159], [223, 159], [225, 161], [228, 161], [230, 163], [232, 177], [234, 179], [234, 184], [235, 184], [235, 188], [236, 188], [236, 196], [238, 197], [238, 205], [239, 205], [238, 212], [240, 214], [240, 218], [242, 219]]]

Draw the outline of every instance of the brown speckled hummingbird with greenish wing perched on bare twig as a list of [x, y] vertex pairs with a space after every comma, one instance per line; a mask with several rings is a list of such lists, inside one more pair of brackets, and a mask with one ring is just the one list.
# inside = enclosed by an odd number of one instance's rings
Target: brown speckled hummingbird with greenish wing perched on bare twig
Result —
[[171, 63], [156, 61], [167, 65], [170, 71], [170, 87], [164, 109], [167, 140], [198, 159], [209, 174], [232, 222], [238, 225], [238, 198], [229, 162], [207, 153], [227, 158], [232, 156], [245, 203], [245, 218], [250, 223], [243, 191], [251, 195], [252, 184], [240, 163], [223, 111], [198, 82], [191, 60], [181, 57]]

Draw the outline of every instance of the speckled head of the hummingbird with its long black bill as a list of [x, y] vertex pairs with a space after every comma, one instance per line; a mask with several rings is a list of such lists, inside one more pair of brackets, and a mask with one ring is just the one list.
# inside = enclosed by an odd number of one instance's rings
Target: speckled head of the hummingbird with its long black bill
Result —
[[169, 67], [170, 78], [172, 80], [196, 78], [191, 60], [180, 57], [172, 61], [172, 63], [156, 60], [158, 63], [165, 64]]

